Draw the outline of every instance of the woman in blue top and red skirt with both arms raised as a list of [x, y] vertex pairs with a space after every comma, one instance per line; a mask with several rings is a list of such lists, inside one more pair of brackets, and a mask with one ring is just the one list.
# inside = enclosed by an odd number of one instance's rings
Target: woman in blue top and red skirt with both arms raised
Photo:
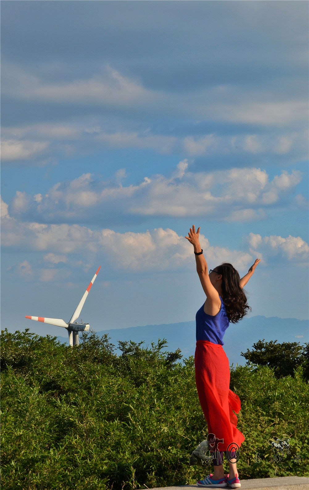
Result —
[[[232, 449], [244, 441], [237, 429], [237, 417], [241, 402], [229, 390], [230, 368], [223, 345], [223, 335], [229, 322], [236, 323], [247, 314], [250, 307], [243, 292], [260, 260], [256, 260], [248, 273], [240, 279], [231, 264], [221, 264], [210, 270], [199, 244], [199, 230], [190, 228], [187, 240], [194, 246], [197, 272], [206, 301], [196, 315], [197, 346], [195, 351], [195, 374], [199, 402], [207, 420], [209, 447], [214, 449], [214, 474], [197, 482], [199, 487], [241, 486], [236, 467], [235, 451], [229, 453], [229, 474], [224, 475], [223, 451]], [[230, 447], [228, 448], [228, 446]], [[231, 461], [231, 462], [230, 462]]]

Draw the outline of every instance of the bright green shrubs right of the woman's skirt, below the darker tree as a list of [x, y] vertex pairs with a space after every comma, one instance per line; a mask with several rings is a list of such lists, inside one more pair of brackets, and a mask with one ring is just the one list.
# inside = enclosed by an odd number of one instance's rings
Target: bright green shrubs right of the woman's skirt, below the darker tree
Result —
[[[238, 463], [243, 478], [308, 475], [309, 385], [302, 368], [278, 379], [266, 366], [239, 366], [231, 371], [230, 388], [242, 401], [237, 427], [245, 437]], [[290, 438], [290, 454], [273, 452], [273, 438]]]

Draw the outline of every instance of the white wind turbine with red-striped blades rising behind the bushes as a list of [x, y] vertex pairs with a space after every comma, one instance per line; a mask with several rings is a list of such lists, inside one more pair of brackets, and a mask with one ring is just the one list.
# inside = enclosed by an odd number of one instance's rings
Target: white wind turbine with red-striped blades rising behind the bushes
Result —
[[[72, 317], [68, 323], [66, 323], [64, 320], [59, 319], [59, 318], [28, 317], [28, 316], [26, 316], [25, 318], [28, 318], [30, 320], [42, 321], [43, 323], [49, 323], [50, 325], [56, 325], [57, 327], [66, 328], [66, 330], [68, 332], [68, 338], [69, 338], [70, 345], [71, 346], [78, 345], [78, 332], [84, 332], [84, 331], [89, 330], [90, 325], [89, 325], [89, 323], [85, 323], [84, 321], [83, 321], [83, 323], [77, 323], [77, 321], [75, 321], [75, 320], [78, 319], [78, 317], [81, 314], [81, 311], [82, 311], [82, 308], [83, 308], [84, 303], [86, 301], [86, 298], [88, 296], [88, 293], [89, 293], [91, 286], [94, 283], [95, 278], [98, 275], [98, 272], [100, 269], [101, 269], [101, 266], [96, 271], [93, 278], [91, 279], [91, 282], [90, 282], [88, 288], [86, 289], [84, 296], [82, 297], [82, 299], [78, 303], [78, 306], [77, 306], [76, 310], [74, 311], [74, 313], [73, 313], [73, 315], [72, 315]], [[75, 323], [74, 323], [74, 321], [75, 321]]]

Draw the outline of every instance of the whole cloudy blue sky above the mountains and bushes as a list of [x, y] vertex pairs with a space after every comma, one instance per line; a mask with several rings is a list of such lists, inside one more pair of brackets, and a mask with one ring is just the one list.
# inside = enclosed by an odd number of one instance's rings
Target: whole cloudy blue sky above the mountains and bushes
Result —
[[[191, 245], [308, 319], [308, 3], [1, 2], [2, 328], [194, 319]], [[83, 317], [84, 315], [84, 317]]]

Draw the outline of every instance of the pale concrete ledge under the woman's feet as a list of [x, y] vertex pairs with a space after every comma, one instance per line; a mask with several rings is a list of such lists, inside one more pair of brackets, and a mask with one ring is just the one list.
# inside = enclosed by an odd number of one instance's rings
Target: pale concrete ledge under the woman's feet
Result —
[[[307, 476], [279, 476], [277, 478], [257, 478], [256, 480], [241, 480], [242, 490], [309, 490]], [[197, 485], [181, 485], [179, 487], [163, 487], [152, 490], [200, 489]], [[214, 488], [214, 487], [212, 487]], [[226, 487], [227, 490], [230, 487]]]

